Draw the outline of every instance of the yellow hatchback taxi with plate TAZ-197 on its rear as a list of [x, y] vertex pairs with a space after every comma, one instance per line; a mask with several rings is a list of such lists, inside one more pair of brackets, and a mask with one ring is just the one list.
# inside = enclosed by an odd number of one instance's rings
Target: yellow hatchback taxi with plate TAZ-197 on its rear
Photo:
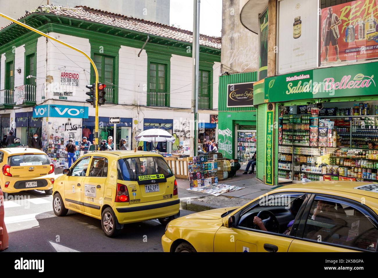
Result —
[[105, 235], [124, 224], [158, 219], [166, 225], [180, 215], [177, 182], [160, 154], [96, 151], [64, 169], [53, 187], [53, 210], [68, 209], [101, 219]]

